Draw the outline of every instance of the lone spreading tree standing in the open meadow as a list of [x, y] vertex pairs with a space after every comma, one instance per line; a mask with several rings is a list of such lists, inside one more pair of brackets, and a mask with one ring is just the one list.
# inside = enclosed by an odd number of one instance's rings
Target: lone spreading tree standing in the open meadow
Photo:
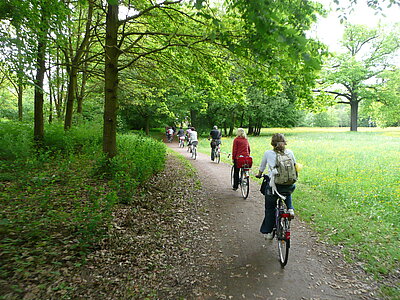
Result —
[[397, 32], [348, 24], [342, 45], [346, 52], [330, 59], [322, 73], [322, 88], [314, 91], [335, 95], [337, 103], [350, 105], [350, 130], [357, 131], [359, 103], [378, 99], [382, 85], [378, 76], [394, 69], [391, 59], [400, 48], [400, 39]]

